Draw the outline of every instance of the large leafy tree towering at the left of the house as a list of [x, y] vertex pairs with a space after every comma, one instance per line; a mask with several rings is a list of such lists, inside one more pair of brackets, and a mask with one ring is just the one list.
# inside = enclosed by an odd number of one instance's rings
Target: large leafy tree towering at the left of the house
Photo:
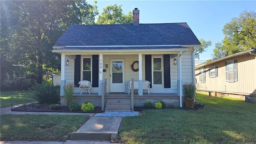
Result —
[[71, 24], [95, 24], [97, 14], [85, 0], [1, 3], [1, 76], [16, 66], [37, 74], [39, 84], [43, 65], [60, 69], [60, 55], [52, 53], [58, 38]]

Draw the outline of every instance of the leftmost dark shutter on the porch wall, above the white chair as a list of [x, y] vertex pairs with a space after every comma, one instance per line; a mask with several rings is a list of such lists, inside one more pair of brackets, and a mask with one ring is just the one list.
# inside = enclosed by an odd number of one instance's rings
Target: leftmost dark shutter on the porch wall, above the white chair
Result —
[[81, 78], [81, 55], [76, 55], [74, 70], [74, 86], [79, 87], [78, 82]]

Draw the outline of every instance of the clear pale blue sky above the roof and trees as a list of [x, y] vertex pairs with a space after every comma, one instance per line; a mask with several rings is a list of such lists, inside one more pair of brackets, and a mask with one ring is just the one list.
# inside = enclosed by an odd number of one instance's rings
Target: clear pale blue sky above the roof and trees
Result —
[[[87, 1], [94, 4], [93, 0]], [[196, 63], [212, 58], [215, 43], [224, 38], [222, 28], [244, 10], [256, 12], [256, 0], [97, 0], [99, 13], [110, 4], [122, 5], [124, 14], [138, 8], [140, 24], [187, 22], [198, 39], [212, 41]]]

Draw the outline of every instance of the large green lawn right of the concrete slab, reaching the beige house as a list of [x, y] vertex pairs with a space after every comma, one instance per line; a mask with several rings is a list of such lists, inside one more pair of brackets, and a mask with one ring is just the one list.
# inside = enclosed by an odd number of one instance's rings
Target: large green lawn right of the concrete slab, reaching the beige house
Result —
[[146, 110], [124, 117], [119, 129], [129, 144], [255, 144], [256, 104], [197, 94], [197, 111]]

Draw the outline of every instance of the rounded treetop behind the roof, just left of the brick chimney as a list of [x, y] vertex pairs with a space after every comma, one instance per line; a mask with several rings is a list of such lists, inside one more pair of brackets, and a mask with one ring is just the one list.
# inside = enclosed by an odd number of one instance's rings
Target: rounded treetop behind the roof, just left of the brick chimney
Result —
[[122, 5], [108, 5], [103, 8], [102, 13], [98, 16], [96, 24], [132, 24], [132, 12], [124, 14]]

